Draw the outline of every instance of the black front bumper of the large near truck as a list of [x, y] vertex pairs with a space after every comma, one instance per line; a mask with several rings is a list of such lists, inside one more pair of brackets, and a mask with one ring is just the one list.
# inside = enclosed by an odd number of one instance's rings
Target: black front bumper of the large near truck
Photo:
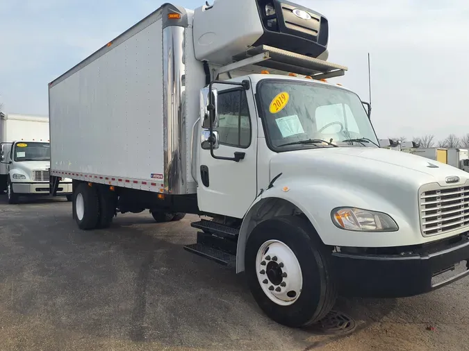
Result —
[[340, 295], [369, 298], [415, 296], [469, 275], [469, 236], [408, 248], [397, 255], [334, 252]]

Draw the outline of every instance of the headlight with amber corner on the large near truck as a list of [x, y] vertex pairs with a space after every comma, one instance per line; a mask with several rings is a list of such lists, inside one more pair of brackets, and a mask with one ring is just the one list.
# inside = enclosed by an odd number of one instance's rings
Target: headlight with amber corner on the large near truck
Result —
[[332, 221], [340, 229], [360, 232], [395, 232], [399, 229], [395, 221], [382, 212], [340, 207], [333, 209], [331, 215]]

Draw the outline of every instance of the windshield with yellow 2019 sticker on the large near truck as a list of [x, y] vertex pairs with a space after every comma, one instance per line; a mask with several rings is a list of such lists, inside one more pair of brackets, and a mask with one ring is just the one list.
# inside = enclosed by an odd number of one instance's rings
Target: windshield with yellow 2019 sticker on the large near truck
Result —
[[268, 144], [275, 151], [378, 143], [359, 97], [352, 92], [318, 83], [263, 80], [258, 93]]

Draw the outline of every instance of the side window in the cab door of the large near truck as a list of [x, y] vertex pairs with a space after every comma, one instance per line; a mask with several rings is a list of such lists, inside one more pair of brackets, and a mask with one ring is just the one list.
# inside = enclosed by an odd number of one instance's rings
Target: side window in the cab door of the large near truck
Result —
[[246, 92], [242, 89], [218, 94], [218, 143], [248, 148], [251, 144], [251, 119]]

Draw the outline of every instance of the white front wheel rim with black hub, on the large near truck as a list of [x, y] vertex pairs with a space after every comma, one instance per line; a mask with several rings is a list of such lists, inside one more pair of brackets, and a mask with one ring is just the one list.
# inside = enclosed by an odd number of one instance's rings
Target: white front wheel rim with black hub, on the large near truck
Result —
[[256, 255], [258, 282], [277, 305], [292, 305], [302, 291], [302, 270], [295, 253], [278, 240], [263, 243]]

